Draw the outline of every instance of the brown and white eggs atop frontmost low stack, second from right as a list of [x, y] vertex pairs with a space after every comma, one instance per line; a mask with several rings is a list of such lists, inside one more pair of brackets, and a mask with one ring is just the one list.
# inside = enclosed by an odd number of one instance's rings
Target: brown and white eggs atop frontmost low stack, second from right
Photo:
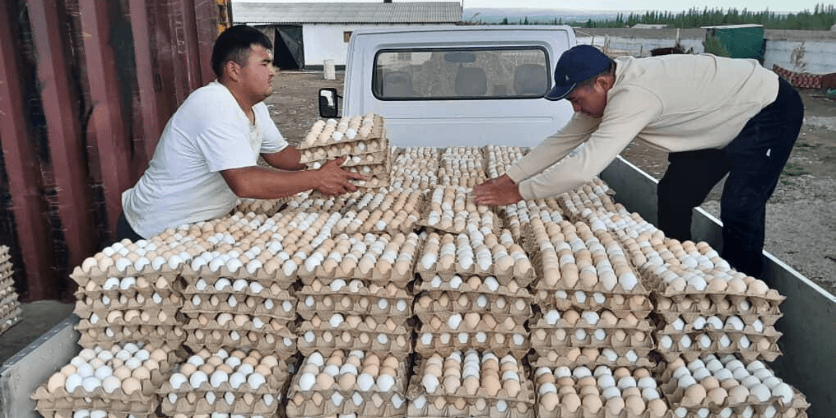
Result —
[[539, 417], [624, 416], [625, 412], [627, 416], [669, 416], [656, 380], [645, 368], [631, 373], [624, 367], [612, 370], [605, 365], [594, 371], [586, 366], [538, 367], [534, 380]]

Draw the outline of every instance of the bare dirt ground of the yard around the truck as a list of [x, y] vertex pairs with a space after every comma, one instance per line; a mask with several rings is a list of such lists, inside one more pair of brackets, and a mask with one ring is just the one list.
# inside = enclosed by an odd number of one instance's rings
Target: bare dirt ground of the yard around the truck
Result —
[[[317, 94], [334, 87], [341, 94], [344, 73], [325, 80], [321, 72], [281, 72], [268, 107], [283, 135], [298, 143], [319, 119]], [[777, 190], [767, 205], [765, 248], [799, 273], [836, 294], [836, 101], [820, 91], [802, 91], [804, 125]], [[660, 178], [665, 153], [634, 143], [624, 157]], [[719, 216], [722, 184], [702, 205]]]

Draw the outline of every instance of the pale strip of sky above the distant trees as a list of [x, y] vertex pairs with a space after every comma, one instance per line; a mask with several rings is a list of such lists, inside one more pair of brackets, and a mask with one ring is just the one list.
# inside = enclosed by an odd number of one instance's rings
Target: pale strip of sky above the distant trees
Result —
[[[372, 0], [249, 0], [263, 3], [338, 3], [338, 2], [360, 2], [375, 3]], [[421, 1], [421, 0], [393, 0], [395, 3]], [[444, 0], [423, 0], [423, 1], [444, 1]], [[461, 0], [460, 0], [461, 1]], [[463, 0], [465, 8], [559, 8], [575, 10], [660, 10], [669, 12], [681, 12], [693, 7], [696, 8], [747, 8], [752, 11], [762, 11], [769, 8], [772, 12], [798, 13], [804, 9], [811, 12], [816, 3], [824, 3], [822, 0]], [[241, 0], [233, 0], [239, 3]], [[382, 3], [382, 0], [380, 0]]]

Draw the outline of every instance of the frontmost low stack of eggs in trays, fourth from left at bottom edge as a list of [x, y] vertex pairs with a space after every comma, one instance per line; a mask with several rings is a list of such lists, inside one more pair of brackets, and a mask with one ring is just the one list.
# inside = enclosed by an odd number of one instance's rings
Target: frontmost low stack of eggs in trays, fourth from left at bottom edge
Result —
[[409, 416], [533, 416], [532, 385], [512, 355], [500, 359], [475, 349], [432, 354], [418, 370], [410, 382]]

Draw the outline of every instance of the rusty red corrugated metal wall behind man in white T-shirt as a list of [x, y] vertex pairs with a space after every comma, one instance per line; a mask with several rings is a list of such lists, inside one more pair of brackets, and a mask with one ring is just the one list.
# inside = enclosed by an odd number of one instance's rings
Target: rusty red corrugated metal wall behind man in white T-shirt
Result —
[[25, 300], [110, 244], [122, 191], [192, 90], [214, 79], [229, 0], [6, 0], [0, 5], [0, 244]]

